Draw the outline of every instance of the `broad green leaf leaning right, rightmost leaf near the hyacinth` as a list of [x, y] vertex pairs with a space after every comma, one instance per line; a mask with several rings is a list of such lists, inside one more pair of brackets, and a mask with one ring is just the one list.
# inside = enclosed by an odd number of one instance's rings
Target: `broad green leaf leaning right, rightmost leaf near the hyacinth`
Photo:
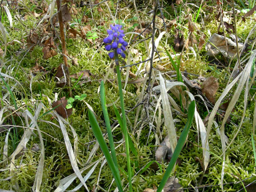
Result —
[[195, 100], [192, 101], [189, 105], [187, 123], [186, 123], [186, 125], [185, 125], [185, 127], [184, 127], [184, 129], [183, 129], [183, 131], [180, 135], [180, 139], [178, 140], [177, 146], [175, 147], [175, 151], [173, 152], [172, 159], [170, 160], [170, 163], [169, 163], [169, 165], [166, 169], [166, 172], [163, 175], [163, 179], [161, 180], [161, 183], [157, 188], [157, 192], [162, 192], [163, 187], [166, 184], [166, 181], [168, 180], [169, 176], [172, 173], [172, 169], [175, 166], [175, 163], [176, 163], [177, 158], [180, 154], [180, 151], [181, 151], [181, 149], [182, 149], [182, 147], [183, 147], [183, 145], [186, 141], [186, 137], [189, 134], [189, 129], [190, 129], [190, 127], [192, 125], [192, 121], [194, 119], [194, 113], [195, 113]]

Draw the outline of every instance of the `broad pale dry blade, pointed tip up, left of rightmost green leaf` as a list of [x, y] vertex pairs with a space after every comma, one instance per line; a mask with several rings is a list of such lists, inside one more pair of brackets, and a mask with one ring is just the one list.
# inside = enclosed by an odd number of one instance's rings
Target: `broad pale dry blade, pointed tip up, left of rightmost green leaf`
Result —
[[177, 145], [175, 125], [172, 119], [172, 111], [171, 111], [169, 99], [167, 96], [165, 81], [160, 72], [159, 72], [159, 77], [160, 77], [160, 90], [161, 90], [162, 105], [163, 105], [164, 124], [168, 132], [168, 136], [169, 136], [169, 140], [170, 140], [171, 148], [173, 152]]

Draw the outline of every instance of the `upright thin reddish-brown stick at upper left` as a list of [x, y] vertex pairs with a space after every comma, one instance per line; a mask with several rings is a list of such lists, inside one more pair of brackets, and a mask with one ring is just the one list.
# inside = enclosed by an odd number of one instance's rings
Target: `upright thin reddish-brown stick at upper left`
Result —
[[62, 20], [62, 12], [61, 12], [61, 0], [57, 0], [57, 10], [58, 10], [58, 20], [60, 25], [60, 32], [61, 32], [61, 47], [62, 47], [62, 54], [63, 54], [63, 61], [65, 64], [65, 75], [68, 83], [68, 89], [69, 89], [69, 96], [72, 97], [71, 92], [71, 82], [70, 82], [70, 76], [69, 76], [69, 69], [68, 69], [68, 63], [67, 63], [67, 49], [66, 49], [66, 43], [65, 43], [65, 35], [64, 35], [64, 26], [63, 26], [63, 20]]

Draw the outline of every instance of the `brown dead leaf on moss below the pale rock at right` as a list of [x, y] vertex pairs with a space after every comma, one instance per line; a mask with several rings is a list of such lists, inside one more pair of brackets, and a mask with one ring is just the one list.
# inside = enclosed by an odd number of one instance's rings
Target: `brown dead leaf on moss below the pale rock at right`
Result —
[[205, 94], [212, 104], [215, 104], [215, 93], [218, 90], [218, 79], [211, 76], [203, 82], [202, 87], [202, 93]]

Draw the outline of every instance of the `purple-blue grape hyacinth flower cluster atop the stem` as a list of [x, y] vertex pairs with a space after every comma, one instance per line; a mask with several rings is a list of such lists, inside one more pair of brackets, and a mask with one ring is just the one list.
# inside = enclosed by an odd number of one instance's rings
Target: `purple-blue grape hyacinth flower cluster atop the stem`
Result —
[[[113, 52], [108, 53], [110, 58], [113, 58], [115, 56], [115, 53], [122, 56], [122, 58], [125, 58], [125, 53], [123, 51], [126, 50], [126, 46], [128, 43], [123, 39], [125, 36], [124, 31], [122, 30], [122, 25], [116, 24], [115, 26], [110, 25], [111, 29], [108, 29], [108, 37], [106, 37], [103, 42], [107, 44], [105, 46], [105, 49], [107, 51], [113, 50]], [[121, 46], [119, 47], [119, 44]]]

